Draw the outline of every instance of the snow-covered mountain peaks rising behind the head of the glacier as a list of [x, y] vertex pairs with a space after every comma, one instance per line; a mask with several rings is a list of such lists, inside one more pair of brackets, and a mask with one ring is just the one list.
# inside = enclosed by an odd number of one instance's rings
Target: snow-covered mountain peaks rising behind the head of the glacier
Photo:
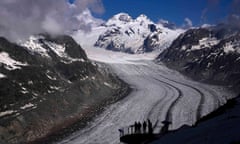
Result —
[[162, 23], [155, 24], [145, 15], [133, 19], [126, 13], [119, 13], [107, 22], [92, 27], [91, 32], [78, 30], [73, 35], [83, 45], [90, 43], [90, 46], [107, 50], [139, 54], [167, 48], [182, 32], [165, 27]]

